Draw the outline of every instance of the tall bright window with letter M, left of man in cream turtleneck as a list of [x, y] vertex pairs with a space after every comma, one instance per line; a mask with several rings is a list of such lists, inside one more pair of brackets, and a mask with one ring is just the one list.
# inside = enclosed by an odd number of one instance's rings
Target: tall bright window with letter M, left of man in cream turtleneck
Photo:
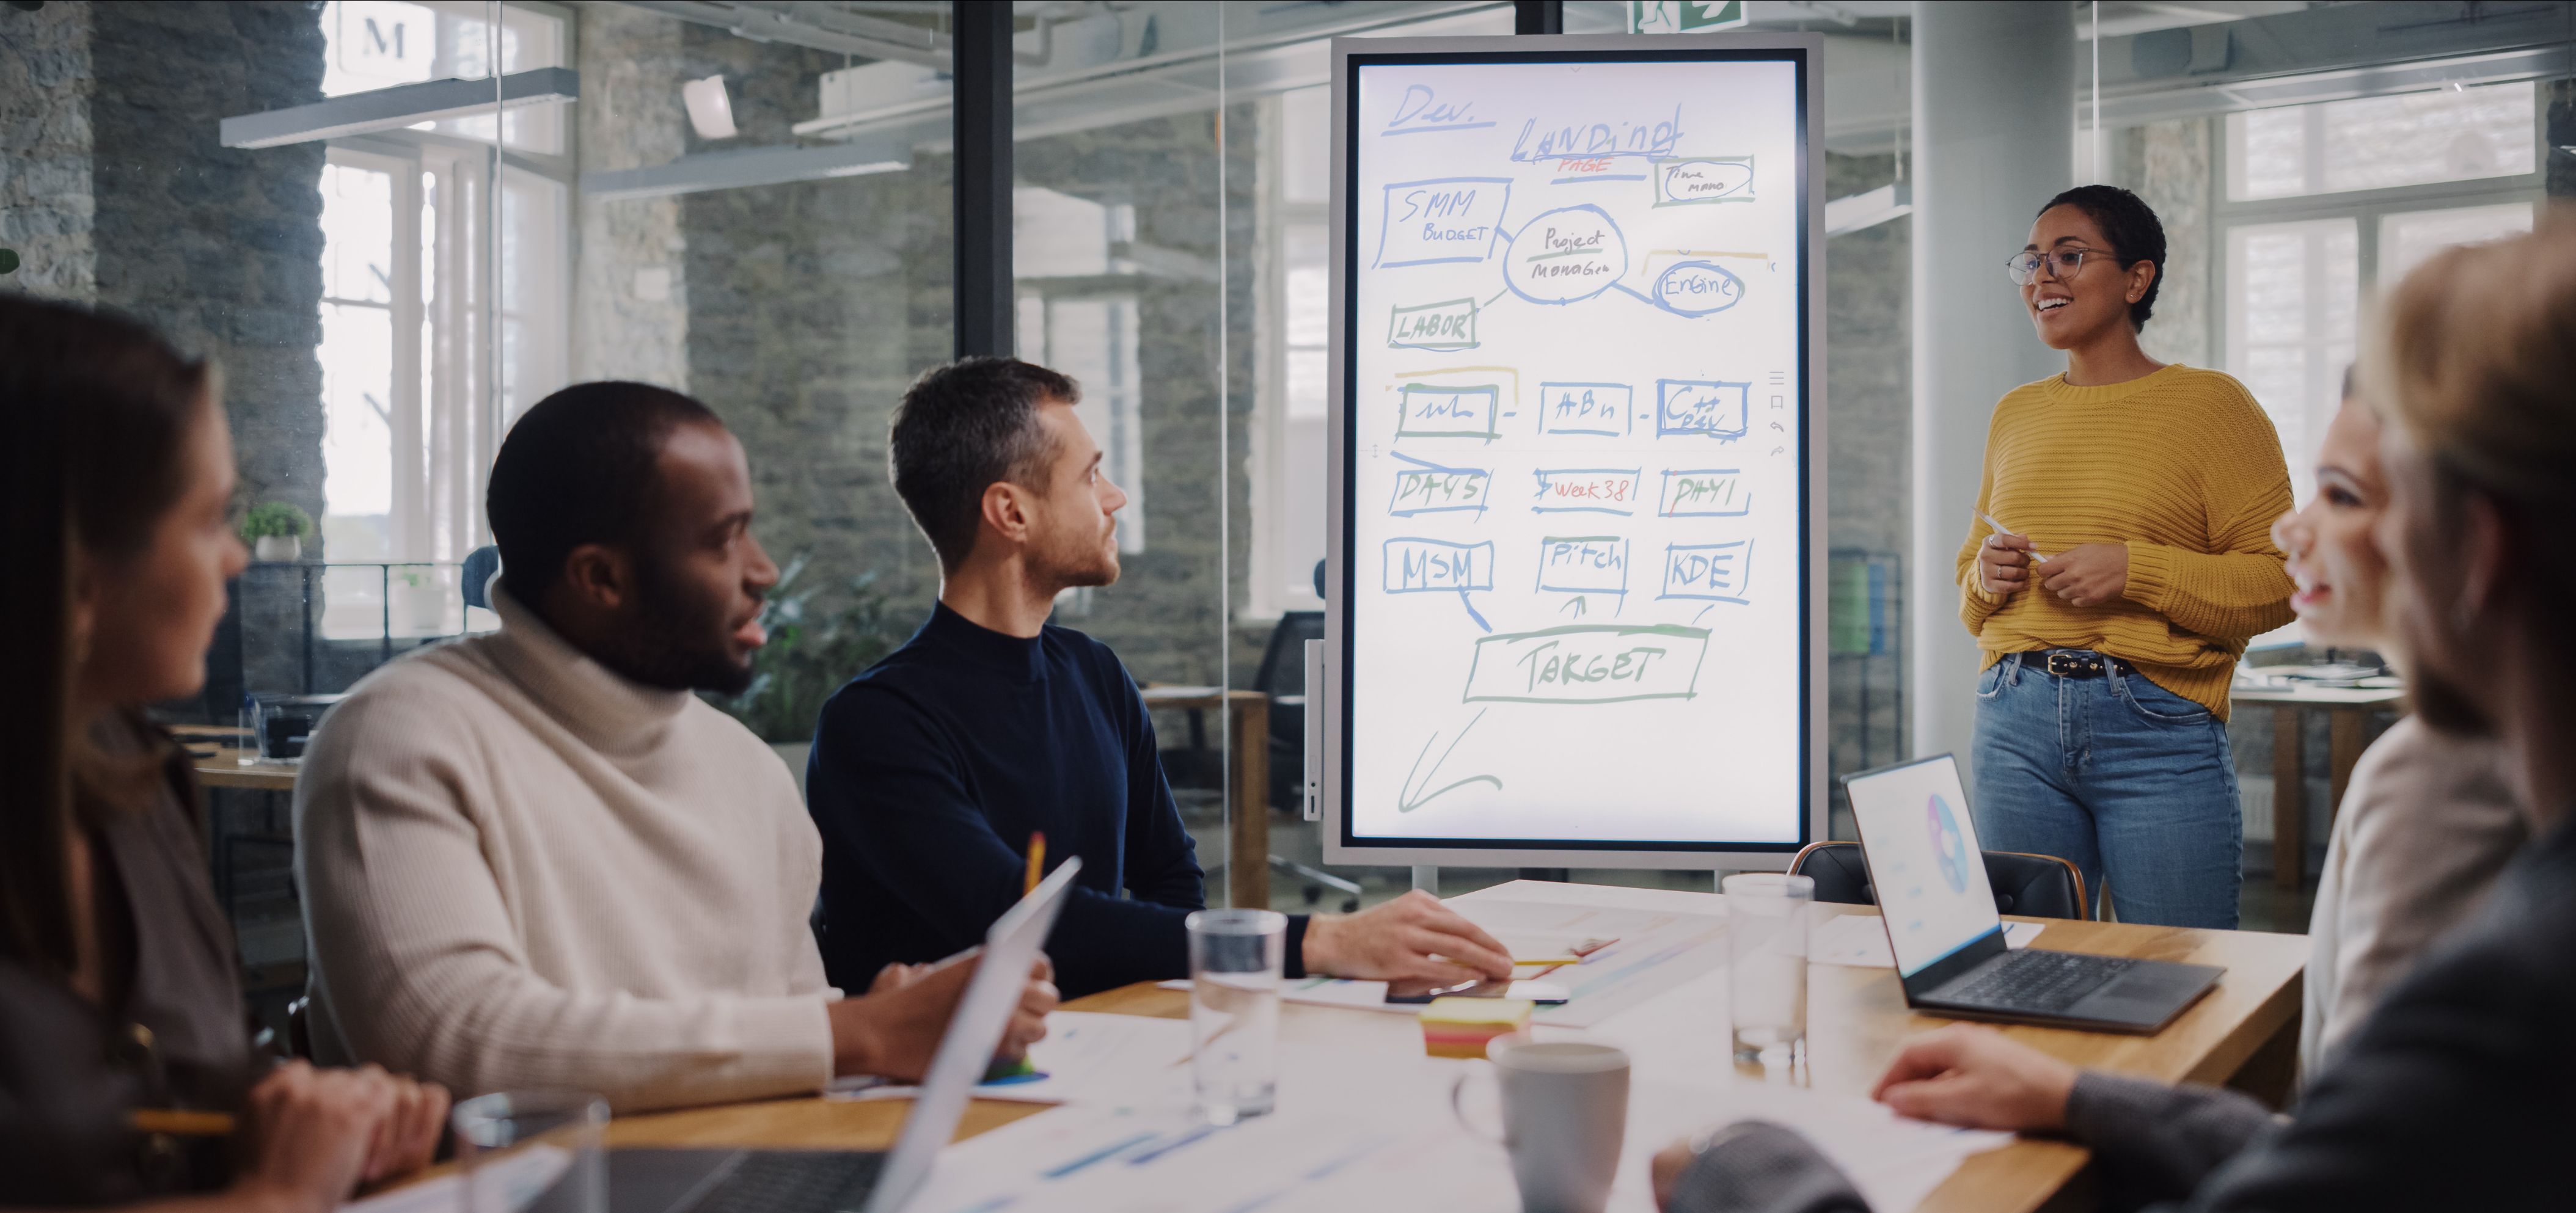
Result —
[[[322, 10], [327, 95], [482, 77], [482, 3], [335, 0]], [[569, 21], [502, 8], [505, 72], [554, 67]], [[322, 173], [322, 538], [332, 564], [453, 564], [487, 541], [482, 469], [507, 417], [564, 384], [569, 160], [562, 106], [330, 142]], [[495, 258], [500, 276], [495, 288]], [[497, 340], [495, 340], [497, 337]], [[495, 376], [497, 368], [497, 376]], [[446, 569], [335, 567], [322, 634], [453, 634]]]

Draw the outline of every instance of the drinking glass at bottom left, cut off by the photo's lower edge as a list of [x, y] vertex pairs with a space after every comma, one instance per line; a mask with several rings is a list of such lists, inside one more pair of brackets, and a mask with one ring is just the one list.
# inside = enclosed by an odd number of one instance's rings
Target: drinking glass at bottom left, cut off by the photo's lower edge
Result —
[[459, 1213], [608, 1213], [600, 1138], [608, 1100], [587, 1092], [492, 1092], [448, 1113], [464, 1169]]

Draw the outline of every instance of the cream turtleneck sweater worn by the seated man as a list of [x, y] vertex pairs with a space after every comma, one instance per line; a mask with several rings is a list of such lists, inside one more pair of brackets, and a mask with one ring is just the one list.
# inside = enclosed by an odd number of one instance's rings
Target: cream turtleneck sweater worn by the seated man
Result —
[[304, 757], [319, 1058], [618, 1113], [819, 1089], [840, 994], [786, 765], [492, 600], [502, 631], [376, 670]]

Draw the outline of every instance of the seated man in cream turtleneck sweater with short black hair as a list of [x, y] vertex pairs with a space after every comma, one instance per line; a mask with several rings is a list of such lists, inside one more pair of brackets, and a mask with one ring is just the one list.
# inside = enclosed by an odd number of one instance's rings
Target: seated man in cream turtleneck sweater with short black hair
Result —
[[778, 582], [742, 446], [683, 394], [580, 384], [518, 420], [487, 507], [502, 628], [358, 682], [296, 783], [314, 1051], [618, 1113], [920, 1077], [971, 966], [827, 986], [796, 780], [693, 693], [750, 682]]

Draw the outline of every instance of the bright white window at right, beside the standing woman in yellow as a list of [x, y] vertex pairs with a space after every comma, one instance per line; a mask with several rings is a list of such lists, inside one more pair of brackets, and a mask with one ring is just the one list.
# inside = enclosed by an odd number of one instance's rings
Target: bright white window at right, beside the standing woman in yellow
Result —
[[2226, 118], [2226, 363], [2313, 492], [2362, 299], [2447, 245], [2530, 232], [2543, 198], [2530, 82]]

